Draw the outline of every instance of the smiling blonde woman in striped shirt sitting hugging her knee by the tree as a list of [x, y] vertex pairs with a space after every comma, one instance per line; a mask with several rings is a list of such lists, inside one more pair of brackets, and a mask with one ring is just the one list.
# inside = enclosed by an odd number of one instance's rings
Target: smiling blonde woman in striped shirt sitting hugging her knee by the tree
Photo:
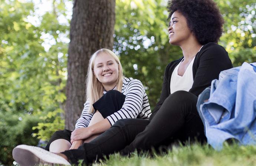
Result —
[[148, 119], [151, 115], [142, 83], [137, 79], [125, 78], [118, 57], [108, 49], [98, 50], [90, 59], [86, 97], [75, 130], [55, 132], [46, 150], [60, 153], [77, 149], [105, 132], [119, 119]]

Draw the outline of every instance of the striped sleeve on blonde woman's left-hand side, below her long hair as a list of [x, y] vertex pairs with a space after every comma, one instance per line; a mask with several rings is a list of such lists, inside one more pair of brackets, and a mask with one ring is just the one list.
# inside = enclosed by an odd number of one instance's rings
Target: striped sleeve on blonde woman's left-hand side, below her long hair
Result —
[[88, 127], [93, 113], [89, 113], [89, 101], [87, 100], [84, 104], [81, 117], [76, 121], [76, 129], [80, 127]]

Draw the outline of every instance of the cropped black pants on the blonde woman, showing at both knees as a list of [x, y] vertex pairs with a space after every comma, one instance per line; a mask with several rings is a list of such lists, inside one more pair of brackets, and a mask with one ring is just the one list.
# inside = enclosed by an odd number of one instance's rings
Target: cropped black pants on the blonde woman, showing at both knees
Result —
[[[92, 105], [94, 109], [98, 110], [101, 113], [102, 117], [104, 117], [105, 119], [107, 116], [120, 110], [124, 104], [124, 101], [125, 101], [124, 94], [120, 93], [117, 90], [109, 90], [98, 101], [96, 101]], [[70, 142], [71, 133], [72, 131], [66, 130], [66, 129], [56, 131], [50, 138], [49, 142], [47, 143], [45, 150], [49, 151], [50, 144], [57, 139], [65, 139]]]

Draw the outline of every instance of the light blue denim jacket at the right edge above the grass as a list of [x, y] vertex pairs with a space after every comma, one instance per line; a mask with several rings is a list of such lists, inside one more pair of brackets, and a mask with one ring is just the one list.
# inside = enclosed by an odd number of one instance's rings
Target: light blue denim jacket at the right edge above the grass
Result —
[[256, 144], [256, 63], [222, 71], [199, 95], [197, 109], [214, 149], [230, 138], [241, 145]]

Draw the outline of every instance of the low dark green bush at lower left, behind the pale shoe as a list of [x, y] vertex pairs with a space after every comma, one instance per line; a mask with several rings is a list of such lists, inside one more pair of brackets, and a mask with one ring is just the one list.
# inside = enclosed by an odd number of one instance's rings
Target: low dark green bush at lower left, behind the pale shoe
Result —
[[13, 114], [13, 112], [0, 112], [0, 164], [12, 165], [12, 150], [20, 144], [34, 145], [38, 139], [32, 137], [31, 126], [40, 122], [38, 116], [26, 116], [22, 113]]

